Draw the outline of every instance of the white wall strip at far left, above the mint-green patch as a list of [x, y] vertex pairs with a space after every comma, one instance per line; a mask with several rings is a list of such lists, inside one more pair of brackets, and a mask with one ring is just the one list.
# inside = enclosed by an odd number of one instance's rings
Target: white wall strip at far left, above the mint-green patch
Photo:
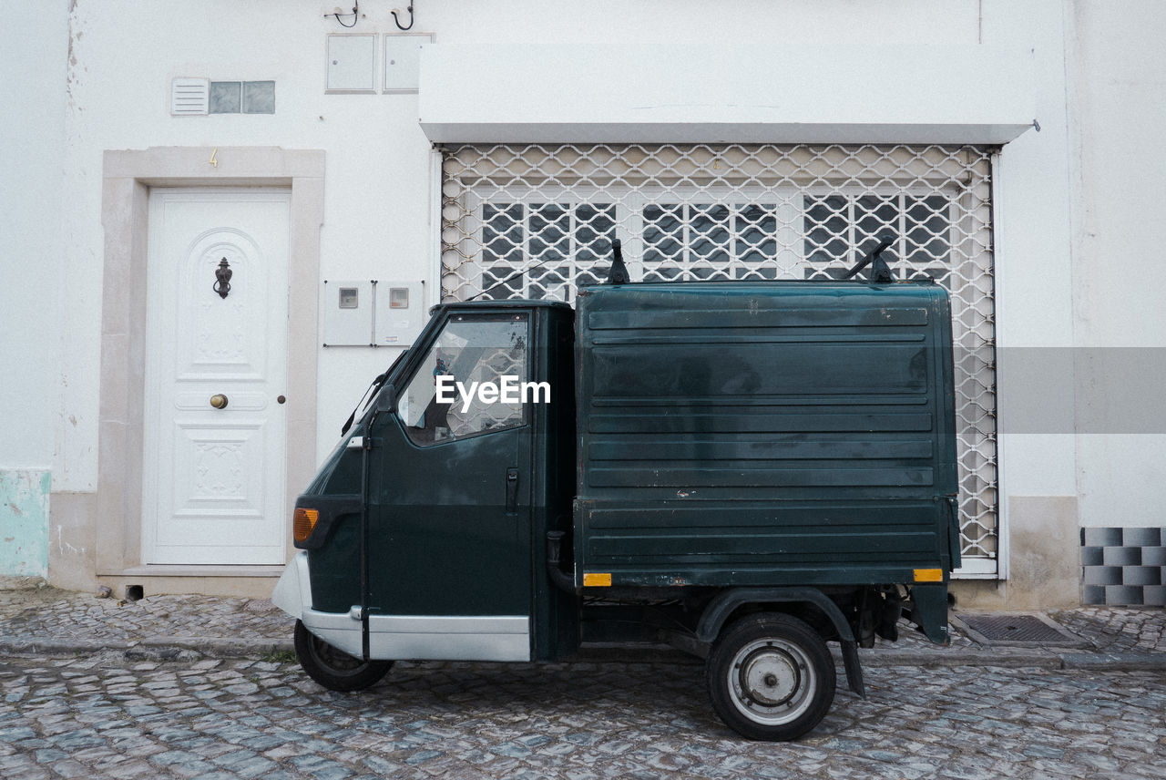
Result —
[[[68, 5], [0, 2], [0, 470], [47, 470], [62, 409], [57, 356]], [[19, 19], [15, 23], [13, 20]]]

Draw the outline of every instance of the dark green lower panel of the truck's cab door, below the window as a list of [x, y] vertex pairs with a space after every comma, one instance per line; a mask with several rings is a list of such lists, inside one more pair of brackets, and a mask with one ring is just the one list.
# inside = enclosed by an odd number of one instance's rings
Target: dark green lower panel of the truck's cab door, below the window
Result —
[[[416, 447], [382, 415], [370, 456], [373, 613], [529, 612], [529, 426]], [[513, 514], [510, 468], [522, 476]]]

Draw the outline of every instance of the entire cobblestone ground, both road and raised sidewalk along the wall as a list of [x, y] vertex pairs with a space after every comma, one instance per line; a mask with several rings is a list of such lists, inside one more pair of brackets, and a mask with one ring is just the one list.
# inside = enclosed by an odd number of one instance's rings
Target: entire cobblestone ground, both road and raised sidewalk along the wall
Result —
[[765, 744], [677, 653], [399, 663], [345, 695], [300, 670], [266, 599], [0, 590], [0, 778], [1166, 778], [1161, 610], [1051, 617], [1080, 641], [955, 620], [944, 648], [904, 625], [862, 651], [865, 701], [842, 687], [810, 735]]

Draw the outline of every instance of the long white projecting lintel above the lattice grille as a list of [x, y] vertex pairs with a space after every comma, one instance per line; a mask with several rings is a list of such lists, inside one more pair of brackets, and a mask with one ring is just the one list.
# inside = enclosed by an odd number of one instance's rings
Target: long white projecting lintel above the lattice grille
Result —
[[1003, 145], [1039, 119], [1030, 57], [985, 45], [437, 43], [422, 47], [419, 113], [440, 143]]

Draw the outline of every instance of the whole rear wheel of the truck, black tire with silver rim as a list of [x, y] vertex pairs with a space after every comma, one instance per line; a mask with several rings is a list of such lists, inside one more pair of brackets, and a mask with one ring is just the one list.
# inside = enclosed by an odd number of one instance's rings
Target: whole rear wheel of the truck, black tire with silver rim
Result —
[[826, 717], [837, 675], [821, 635], [780, 612], [723, 628], [704, 666], [712, 709], [750, 739], [796, 739]]

